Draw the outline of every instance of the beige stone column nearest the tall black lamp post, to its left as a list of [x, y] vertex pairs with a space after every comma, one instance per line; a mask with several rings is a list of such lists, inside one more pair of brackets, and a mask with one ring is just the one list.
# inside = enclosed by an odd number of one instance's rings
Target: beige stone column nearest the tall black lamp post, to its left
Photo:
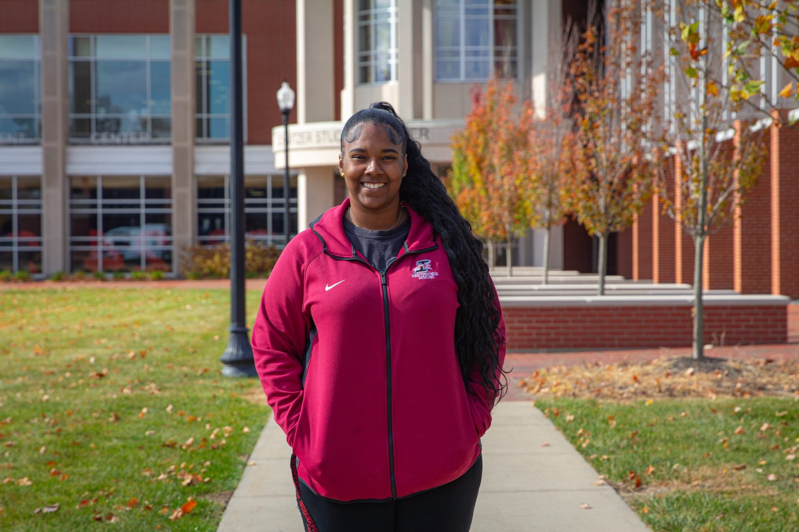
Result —
[[173, 271], [181, 251], [194, 243], [197, 199], [194, 186], [194, 0], [169, 0], [172, 37], [172, 235]]

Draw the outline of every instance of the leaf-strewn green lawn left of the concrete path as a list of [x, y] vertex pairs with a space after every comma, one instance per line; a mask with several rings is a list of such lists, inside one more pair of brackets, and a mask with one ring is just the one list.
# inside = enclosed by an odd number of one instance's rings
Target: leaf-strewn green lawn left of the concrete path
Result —
[[269, 416], [221, 376], [229, 315], [228, 290], [0, 291], [0, 530], [216, 530]]

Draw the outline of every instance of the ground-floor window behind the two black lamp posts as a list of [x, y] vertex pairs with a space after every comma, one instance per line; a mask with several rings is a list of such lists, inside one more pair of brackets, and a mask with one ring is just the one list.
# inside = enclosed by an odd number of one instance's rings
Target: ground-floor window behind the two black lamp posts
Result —
[[[285, 191], [282, 175], [244, 177], [245, 238], [284, 245]], [[230, 198], [227, 175], [197, 177], [197, 242], [212, 245], [230, 238]], [[297, 232], [296, 178], [289, 181], [288, 231]]]

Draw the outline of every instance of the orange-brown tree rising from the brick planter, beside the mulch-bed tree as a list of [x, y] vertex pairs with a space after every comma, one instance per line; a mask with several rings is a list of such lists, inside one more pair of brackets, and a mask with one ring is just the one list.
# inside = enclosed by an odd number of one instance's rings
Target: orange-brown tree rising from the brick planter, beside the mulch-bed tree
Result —
[[592, 18], [571, 67], [578, 109], [569, 195], [578, 222], [599, 239], [599, 295], [610, 234], [630, 227], [650, 198], [650, 120], [662, 79], [662, 69], [636, 45], [641, 2], [609, 0], [605, 9], [602, 33]]

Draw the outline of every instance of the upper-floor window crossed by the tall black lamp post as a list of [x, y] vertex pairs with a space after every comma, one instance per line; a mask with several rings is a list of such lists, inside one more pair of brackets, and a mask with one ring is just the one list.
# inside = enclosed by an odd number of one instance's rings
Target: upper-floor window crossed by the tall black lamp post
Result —
[[[227, 35], [198, 35], [196, 39], [197, 139], [227, 141], [230, 138], [230, 38]], [[242, 77], [246, 87], [247, 41], [244, 36], [241, 39]], [[244, 132], [247, 131], [246, 104], [247, 98], [244, 97]]]

